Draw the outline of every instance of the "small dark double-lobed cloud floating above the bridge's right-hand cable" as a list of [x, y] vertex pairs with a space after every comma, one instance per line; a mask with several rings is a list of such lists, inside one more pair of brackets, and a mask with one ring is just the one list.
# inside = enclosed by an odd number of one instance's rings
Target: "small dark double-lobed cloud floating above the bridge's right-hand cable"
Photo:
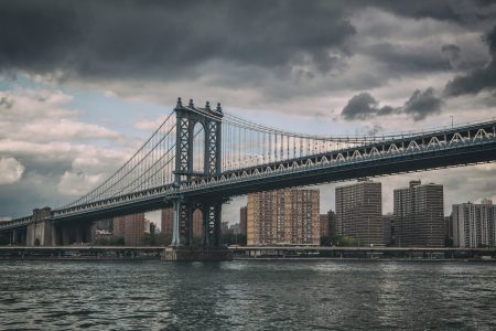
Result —
[[443, 102], [434, 95], [432, 87], [421, 92], [417, 89], [402, 107], [384, 106], [369, 94], [360, 93], [354, 96], [343, 108], [341, 116], [346, 120], [368, 119], [391, 114], [406, 114], [413, 120], [422, 120], [429, 115], [439, 114]]

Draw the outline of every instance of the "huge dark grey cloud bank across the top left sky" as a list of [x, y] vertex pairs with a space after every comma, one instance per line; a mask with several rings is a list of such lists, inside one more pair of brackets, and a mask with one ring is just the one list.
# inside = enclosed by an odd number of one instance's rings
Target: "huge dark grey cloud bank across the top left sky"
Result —
[[209, 60], [274, 67], [303, 56], [326, 72], [354, 33], [327, 1], [2, 1], [0, 70], [168, 79]]

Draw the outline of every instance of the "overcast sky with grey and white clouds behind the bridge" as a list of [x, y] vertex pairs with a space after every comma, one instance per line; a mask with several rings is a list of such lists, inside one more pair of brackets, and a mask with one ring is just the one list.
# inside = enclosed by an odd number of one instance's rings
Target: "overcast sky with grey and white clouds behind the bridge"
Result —
[[[177, 96], [303, 134], [366, 135], [496, 116], [494, 1], [0, 2], [0, 217], [104, 181]], [[496, 201], [496, 166], [384, 177]], [[334, 184], [321, 185], [321, 211]], [[225, 207], [237, 222], [242, 197]]]

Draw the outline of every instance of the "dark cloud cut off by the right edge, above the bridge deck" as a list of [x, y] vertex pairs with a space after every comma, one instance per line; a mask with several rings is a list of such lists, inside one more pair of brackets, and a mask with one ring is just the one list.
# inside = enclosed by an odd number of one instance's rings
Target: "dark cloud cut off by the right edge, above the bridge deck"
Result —
[[487, 33], [485, 42], [489, 47], [490, 62], [482, 68], [474, 70], [465, 76], [457, 76], [446, 84], [448, 96], [477, 94], [483, 89], [496, 88], [496, 26]]

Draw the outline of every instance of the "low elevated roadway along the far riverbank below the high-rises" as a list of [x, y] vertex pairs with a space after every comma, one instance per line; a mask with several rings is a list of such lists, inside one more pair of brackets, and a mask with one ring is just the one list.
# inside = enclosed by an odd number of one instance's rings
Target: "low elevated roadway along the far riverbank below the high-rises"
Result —
[[[161, 260], [169, 246], [0, 246], [0, 259]], [[234, 259], [370, 259], [370, 260], [485, 260], [496, 261], [496, 247], [327, 247], [229, 246]], [[229, 258], [230, 259], [230, 258]]]

